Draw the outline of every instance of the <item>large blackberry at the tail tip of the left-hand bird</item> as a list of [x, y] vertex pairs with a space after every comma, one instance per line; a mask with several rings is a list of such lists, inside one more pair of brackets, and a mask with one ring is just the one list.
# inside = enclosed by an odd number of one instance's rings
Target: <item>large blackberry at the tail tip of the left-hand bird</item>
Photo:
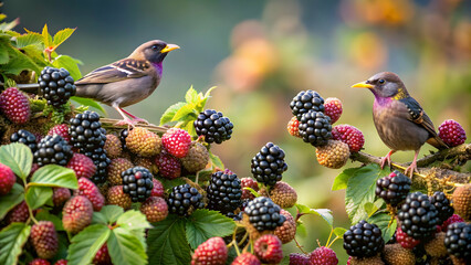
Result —
[[45, 66], [38, 78], [39, 86], [48, 105], [59, 107], [75, 95], [74, 78], [65, 68]]

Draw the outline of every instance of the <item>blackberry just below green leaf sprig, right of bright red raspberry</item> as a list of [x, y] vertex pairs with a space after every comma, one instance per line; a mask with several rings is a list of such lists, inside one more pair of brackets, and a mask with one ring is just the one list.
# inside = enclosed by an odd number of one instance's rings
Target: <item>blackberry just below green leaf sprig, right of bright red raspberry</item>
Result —
[[195, 120], [195, 129], [198, 136], [205, 136], [208, 144], [221, 144], [229, 140], [232, 135], [233, 124], [222, 113], [214, 109], [206, 109]]

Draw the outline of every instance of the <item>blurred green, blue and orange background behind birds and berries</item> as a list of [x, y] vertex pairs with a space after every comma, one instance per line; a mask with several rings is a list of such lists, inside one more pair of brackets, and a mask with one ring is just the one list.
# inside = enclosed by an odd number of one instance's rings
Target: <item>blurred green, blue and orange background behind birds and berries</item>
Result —
[[[315, 150], [291, 137], [289, 104], [303, 89], [337, 97], [344, 114], [337, 124], [359, 128], [365, 150], [384, 156], [371, 120], [373, 95], [349, 88], [381, 71], [401, 76], [436, 127], [452, 118], [471, 128], [471, 1], [462, 0], [11, 0], [1, 12], [20, 18], [22, 28], [50, 32], [76, 28], [59, 53], [83, 61], [82, 73], [127, 56], [145, 41], [161, 39], [181, 50], [164, 63], [164, 80], [154, 95], [129, 107], [158, 124], [172, 103], [218, 86], [208, 102], [234, 124], [230, 141], [213, 147], [228, 168], [250, 176], [250, 160], [268, 141], [286, 152], [283, 180], [299, 202], [333, 210], [336, 226], [348, 227], [345, 193], [331, 191], [342, 171], [318, 166]], [[118, 117], [108, 108], [111, 117]], [[468, 140], [469, 141], [469, 140]], [[422, 148], [421, 156], [430, 147]], [[394, 160], [411, 161], [412, 152]], [[348, 163], [347, 167], [357, 165]], [[469, 166], [468, 166], [469, 169]], [[328, 226], [303, 216], [297, 237], [306, 251], [325, 245]], [[342, 241], [333, 248], [346, 263]], [[295, 244], [285, 252], [299, 252]]]

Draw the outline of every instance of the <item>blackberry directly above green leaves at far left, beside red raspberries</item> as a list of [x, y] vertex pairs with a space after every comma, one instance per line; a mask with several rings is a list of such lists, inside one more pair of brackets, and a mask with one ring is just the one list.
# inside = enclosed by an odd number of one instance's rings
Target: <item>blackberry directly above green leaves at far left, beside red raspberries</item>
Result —
[[38, 145], [34, 161], [42, 167], [49, 163], [66, 166], [73, 156], [71, 147], [60, 136], [45, 136]]

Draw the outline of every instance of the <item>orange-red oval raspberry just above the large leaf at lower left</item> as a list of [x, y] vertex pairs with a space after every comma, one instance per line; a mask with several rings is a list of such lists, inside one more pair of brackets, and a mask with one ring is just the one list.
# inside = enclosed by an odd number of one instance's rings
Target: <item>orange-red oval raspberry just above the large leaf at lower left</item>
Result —
[[70, 233], [78, 233], [92, 223], [93, 205], [83, 195], [72, 197], [62, 209], [62, 223]]

